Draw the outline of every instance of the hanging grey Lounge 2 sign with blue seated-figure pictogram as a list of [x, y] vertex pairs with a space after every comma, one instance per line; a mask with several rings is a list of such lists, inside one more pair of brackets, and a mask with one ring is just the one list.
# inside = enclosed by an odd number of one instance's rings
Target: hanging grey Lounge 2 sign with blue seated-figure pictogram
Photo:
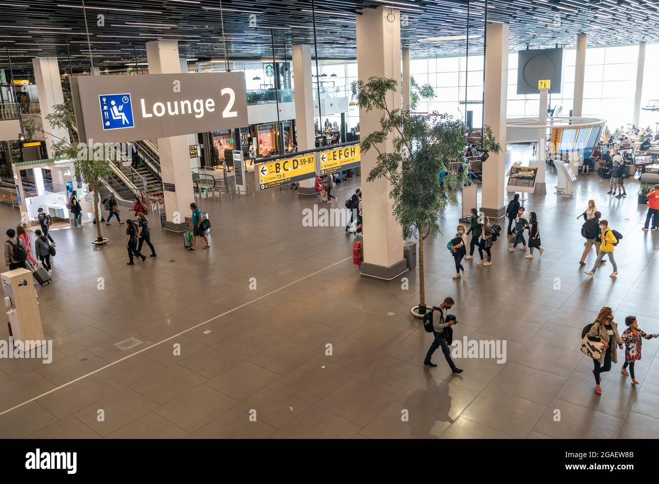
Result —
[[74, 76], [81, 140], [116, 143], [247, 126], [243, 72]]

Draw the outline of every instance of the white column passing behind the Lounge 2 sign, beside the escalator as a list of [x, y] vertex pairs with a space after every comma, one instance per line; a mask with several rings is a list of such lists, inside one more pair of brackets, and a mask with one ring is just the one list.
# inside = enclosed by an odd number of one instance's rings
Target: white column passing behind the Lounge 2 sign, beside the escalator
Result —
[[[175, 40], [147, 42], [146, 58], [149, 74], [181, 72], [179, 46]], [[190, 95], [192, 94], [194, 93]], [[185, 216], [190, 213], [190, 203], [194, 202], [188, 137], [182, 135], [158, 138], [158, 151], [163, 183], [173, 184], [175, 187], [174, 192], [163, 191], [167, 213], [166, 227], [171, 230], [184, 230]]]

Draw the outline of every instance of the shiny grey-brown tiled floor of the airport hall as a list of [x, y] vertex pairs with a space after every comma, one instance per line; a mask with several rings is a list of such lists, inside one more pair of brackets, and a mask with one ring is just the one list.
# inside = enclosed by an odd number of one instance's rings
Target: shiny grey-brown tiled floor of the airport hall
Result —
[[[335, 206], [358, 183], [337, 188]], [[0, 360], [0, 437], [659, 437], [659, 340], [643, 343], [639, 387], [618, 363], [602, 396], [579, 351], [602, 305], [619, 325], [632, 313], [659, 333], [659, 233], [641, 231], [637, 182], [619, 200], [596, 175], [576, 187], [571, 199], [529, 196], [546, 248], [535, 259], [501, 240], [492, 266], [467, 261], [467, 278], [453, 281], [445, 238], [428, 242], [426, 298], [457, 300], [455, 338], [507, 342], [505, 363], [461, 359], [461, 375], [440, 352], [438, 367], [422, 365], [431, 335], [408, 312], [416, 273], [407, 290], [361, 279], [353, 236], [302, 227], [302, 208], [317, 200], [288, 188], [204, 200], [210, 250], [186, 252], [154, 223], [158, 258], [134, 267], [116, 223], [103, 226], [103, 248], [90, 243], [93, 227], [55, 232], [53, 283], [38, 288], [53, 362]], [[609, 263], [594, 279], [578, 264], [576, 216], [590, 198], [624, 235], [615, 280]], [[444, 214], [447, 233], [458, 215]], [[11, 227], [18, 212], [0, 219]], [[115, 346], [130, 337], [142, 343]]]

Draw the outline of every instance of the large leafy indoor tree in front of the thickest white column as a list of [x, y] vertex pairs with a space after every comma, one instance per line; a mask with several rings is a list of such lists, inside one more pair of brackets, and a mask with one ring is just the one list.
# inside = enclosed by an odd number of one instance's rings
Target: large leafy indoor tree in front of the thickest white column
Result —
[[[391, 184], [389, 197], [393, 214], [403, 230], [403, 238], [418, 238], [418, 306], [411, 308], [415, 317], [426, 312], [424, 279], [424, 240], [441, 233], [440, 212], [448, 203], [457, 204], [455, 190], [469, 179], [467, 170], [450, 171], [451, 161], [463, 159], [467, 146], [467, 126], [450, 115], [413, 114], [420, 98], [434, 97], [431, 86], [413, 87], [411, 109], [393, 109], [387, 105], [387, 94], [395, 92], [397, 81], [372, 77], [367, 82], [352, 84], [353, 97], [366, 111], [382, 111], [381, 128], [363, 137], [362, 153], [374, 149], [376, 166], [368, 173], [367, 182], [386, 178]], [[393, 150], [385, 151], [391, 141]], [[447, 175], [440, 183], [440, 170]]]

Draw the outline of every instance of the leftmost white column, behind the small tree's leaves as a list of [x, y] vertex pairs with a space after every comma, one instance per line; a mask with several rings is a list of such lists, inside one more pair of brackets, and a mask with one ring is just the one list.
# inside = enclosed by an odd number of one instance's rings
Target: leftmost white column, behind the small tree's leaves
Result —
[[[53, 157], [53, 143], [59, 141], [57, 138], [69, 141], [69, 132], [62, 128], [53, 128], [45, 119], [53, 113], [53, 106], [64, 102], [62, 94], [62, 83], [59, 78], [59, 66], [57, 57], [36, 57], [32, 59], [34, 67], [34, 80], [39, 95], [39, 106], [41, 109], [41, 121], [43, 130], [49, 134], [45, 135], [45, 147], [48, 157]], [[53, 136], [50, 136], [52, 134]]]

